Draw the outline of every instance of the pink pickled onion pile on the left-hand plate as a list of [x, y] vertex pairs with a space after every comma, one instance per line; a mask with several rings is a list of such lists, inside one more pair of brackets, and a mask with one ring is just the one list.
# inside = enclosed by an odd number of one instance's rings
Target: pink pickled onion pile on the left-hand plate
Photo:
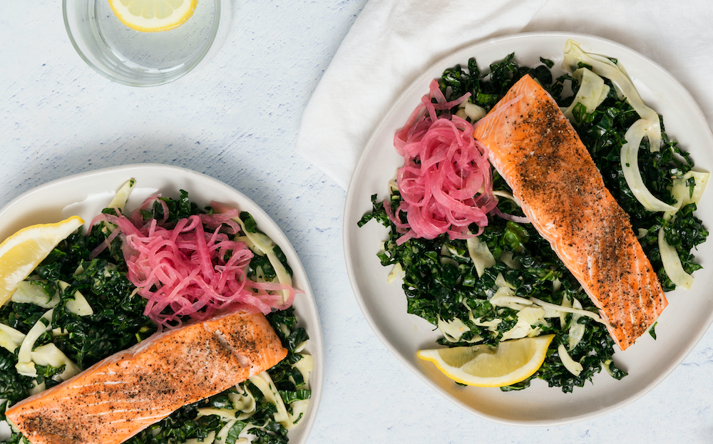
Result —
[[[232, 240], [240, 232], [240, 225], [232, 220], [239, 217], [239, 210], [193, 215], [175, 224], [166, 224], [165, 218], [145, 222], [141, 210], [153, 202], [160, 202], [163, 214], [168, 215], [165, 202], [153, 196], [130, 219], [121, 214], [99, 215], [92, 221], [92, 226], [98, 222], [116, 225], [92, 255], [117, 235], [122, 239], [127, 277], [137, 294], [148, 299], [145, 316], [159, 326], [175, 328], [182, 325], [180, 316], [203, 320], [224, 309], [268, 314], [292, 305], [295, 291], [291, 286], [247, 278], [245, 269], [253, 252], [245, 242]], [[287, 296], [282, 290], [287, 290]]]

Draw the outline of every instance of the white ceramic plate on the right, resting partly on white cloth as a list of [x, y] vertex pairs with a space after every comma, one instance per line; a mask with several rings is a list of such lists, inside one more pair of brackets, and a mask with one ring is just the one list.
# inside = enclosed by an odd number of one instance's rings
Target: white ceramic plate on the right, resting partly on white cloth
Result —
[[[458, 406], [476, 415], [501, 423], [518, 425], [554, 425], [592, 418], [614, 411], [643, 396], [660, 383], [694, 348], [713, 320], [713, 294], [709, 289], [713, 274], [699, 271], [690, 291], [667, 294], [670, 305], [663, 311], [656, 327], [657, 340], [644, 335], [624, 352], [615, 353], [615, 362], [629, 373], [616, 381], [605, 371], [595, 376], [593, 384], [562, 393], [548, 388], [544, 381], [533, 381], [524, 391], [502, 392], [498, 388], [457, 386], [436, 367], [416, 358], [419, 349], [431, 349], [438, 334], [434, 326], [417, 316], [406, 314], [406, 296], [401, 282], [386, 283], [390, 269], [381, 267], [376, 252], [386, 239], [386, 230], [378, 222], [356, 227], [364, 213], [371, 211], [369, 197], [388, 194], [387, 182], [403, 158], [396, 154], [394, 132], [406, 122], [409, 114], [429, 91], [429, 82], [443, 70], [475, 57], [481, 71], [490, 63], [515, 52], [515, 59], [525, 66], [540, 64], [540, 56], [555, 62], [553, 74], [563, 71], [565, 41], [573, 38], [585, 51], [617, 58], [645, 102], [664, 116], [668, 135], [692, 153], [698, 170], [713, 165], [713, 134], [707, 120], [691, 95], [663, 68], [640, 53], [618, 43], [595, 36], [572, 33], [523, 33], [493, 38], [463, 48], [431, 66], [406, 88], [389, 113], [371, 135], [359, 160], [347, 192], [344, 212], [344, 253], [349, 279], [356, 299], [371, 328], [411, 371], [429, 386]], [[713, 190], [708, 190], [699, 205], [697, 216], [713, 227]], [[699, 246], [697, 260], [705, 270], [713, 269], [712, 242]]]

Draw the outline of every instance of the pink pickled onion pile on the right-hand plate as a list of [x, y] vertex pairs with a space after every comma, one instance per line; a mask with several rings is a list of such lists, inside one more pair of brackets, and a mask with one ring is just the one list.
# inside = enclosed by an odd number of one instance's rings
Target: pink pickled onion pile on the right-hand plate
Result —
[[[429, 94], [394, 136], [396, 152], [404, 156], [396, 175], [403, 201], [394, 213], [386, 200], [384, 210], [403, 234], [396, 241], [399, 245], [412, 237], [434, 239], [443, 233], [466, 239], [474, 235], [468, 231], [473, 223], [480, 234], [488, 224], [488, 212], [498, 203], [488, 148], [473, 138], [473, 125], [450, 112], [469, 96], [448, 101], [438, 83], [431, 81]], [[401, 212], [407, 223], [401, 222]]]

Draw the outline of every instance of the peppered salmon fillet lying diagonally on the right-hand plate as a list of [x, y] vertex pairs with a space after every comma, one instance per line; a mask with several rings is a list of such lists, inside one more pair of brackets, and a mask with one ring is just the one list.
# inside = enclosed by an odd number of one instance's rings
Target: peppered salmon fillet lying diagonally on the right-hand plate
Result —
[[555, 100], [524, 76], [473, 137], [488, 147], [523, 212], [578, 279], [621, 350], [667, 306], [629, 221]]

